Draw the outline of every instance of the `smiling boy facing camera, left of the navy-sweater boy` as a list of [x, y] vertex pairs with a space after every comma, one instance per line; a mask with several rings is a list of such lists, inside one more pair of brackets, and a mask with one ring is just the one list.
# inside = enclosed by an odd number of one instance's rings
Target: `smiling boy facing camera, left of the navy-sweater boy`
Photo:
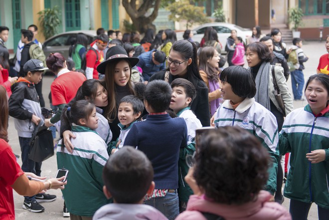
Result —
[[133, 124], [141, 118], [144, 111], [143, 102], [134, 95], [127, 95], [120, 101], [118, 107], [118, 118], [120, 123], [120, 135], [116, 141], [111, 143], [111, 154], [121, 149], [124, 146], [125, 139]]

